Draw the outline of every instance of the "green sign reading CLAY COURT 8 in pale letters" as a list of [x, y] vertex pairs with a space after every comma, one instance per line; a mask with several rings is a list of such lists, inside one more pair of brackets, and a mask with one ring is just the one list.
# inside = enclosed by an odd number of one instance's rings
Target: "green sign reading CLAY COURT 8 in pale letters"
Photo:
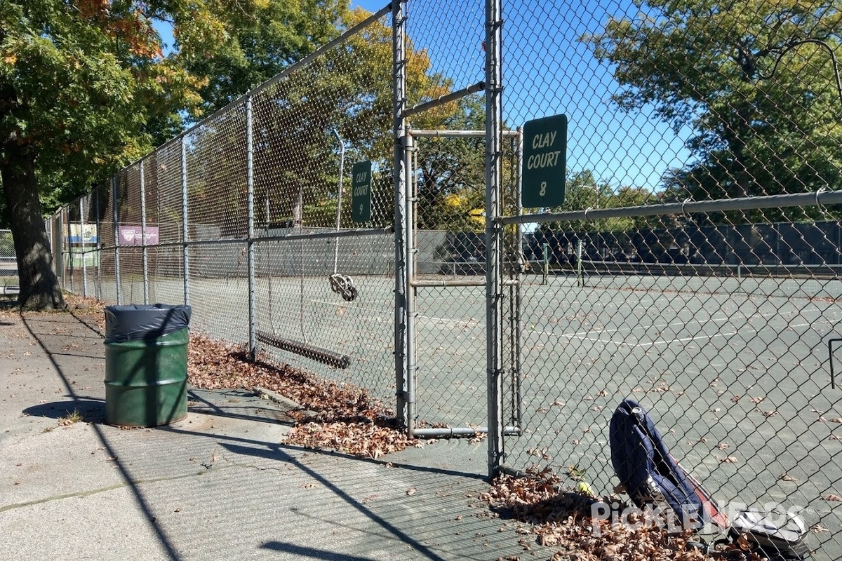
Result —
[[524, 124], [523, 205], [546, 208], [564, 202], [568, 118], [554, 115]]

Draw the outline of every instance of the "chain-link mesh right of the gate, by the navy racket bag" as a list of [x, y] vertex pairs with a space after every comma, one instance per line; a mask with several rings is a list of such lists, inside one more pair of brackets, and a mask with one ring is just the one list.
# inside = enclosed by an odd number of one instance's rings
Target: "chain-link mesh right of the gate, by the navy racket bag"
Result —
[[750, 199], [838, 187], [837, 12], [743, 8], [506, 4], [504, 122], [566, 114], [568, 145], [564, 203], [509, 237], [504, 453], [610, 493], [636, 400], [722, 505], [804, 509], [839, 558], [838, 209]]

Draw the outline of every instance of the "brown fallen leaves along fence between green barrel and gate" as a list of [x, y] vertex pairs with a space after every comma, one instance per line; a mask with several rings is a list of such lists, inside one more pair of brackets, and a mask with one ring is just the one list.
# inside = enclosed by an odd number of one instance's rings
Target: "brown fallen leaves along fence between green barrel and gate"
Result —
[[392, 427], [385, 407], [365, 389], [337, 384], [266, 357], [251, 361], [241, 346], [191, 335], [188, 380], [196, 388], [269, 389], [301, 405], [289, 415], [297, 424], [285, 442], [333, 448], [364, 458], [378, 458], [408, 447], [406, 432]]

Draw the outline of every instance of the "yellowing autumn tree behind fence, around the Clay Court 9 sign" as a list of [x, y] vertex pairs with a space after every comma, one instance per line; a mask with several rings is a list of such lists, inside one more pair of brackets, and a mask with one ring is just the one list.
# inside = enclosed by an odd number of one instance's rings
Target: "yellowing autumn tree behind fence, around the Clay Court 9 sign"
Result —
[[[344, 12], [341, 26], [345, 29], [370, 16], [357, 8]], [[338, 33], [338, 30], [335, 30]], [[325, 35], [327, 41], [328, 35]], [[256, 44], [255, 44], [256, 45]], [[256, 48], [256, 47], [255, 47]], [[408, 41], [408, 103], [422, 103], [450, 92], [450, 83], [430, 71], [429, 56], [424, 50], [413, 49]], [[303, 54], [306, 53], [301, 53]], [[268, 56], [268, 55], [266, 55]], [[249, 70], [266, 56], [258, 50], [236, 66], [232, 60], [216, 63], [221, 76], [266, 76]], [[288, 61], [274, 61], [274, 71], [282, 71]], [[263, 71], [262, 67], [260, 71]], [[268, 201], [268, 220], [271, 224], [285, 224], [291, 220], [307, 226], [332, 228], [338, 204], [338, 169], [340, 144], [344, 151], [344, 172], [347, 180], [350, 164], [369, 160], [373, 175], [389, 177], [392, 169], [394, 139], [392, 137], [392, 29], [380, 21], [373, 22], [354, 34], [342, 45], [336, 45], [321, 56], [298, 66], [282, 79], [262, 87], [253, 98], [253, 171], [254, 198], [261, 208]], [[233, 78], [231, 78], [233, 80]], [[211, 80], [214, 82], [214, 80]], [[226, 82], [226, 80], [221, 80]], [[230, 95], [219, 98], [217, 105], [225, 105], [237, 91], [245, 92], [253, 83], [232, 88]], [[418, 115], [413, 124], [419, 127], [442, 122], [456, 112], [456, 103]], [[190, 161], [189, 167], [200, 170], [215, 167], [226, 177], [242, 177], [242, 111], [217, 114], [202, 126], [204, 138], [192, 143], [191, 151], [201, 157]], [[440, 128], [440, 127], [437, 127]], [[212, 152], [211, 153], [209, 153]], [[210, 170], [209, 170], [210, 173]], [[245, 184], [225, 193], [211, 193], [212, 185], [220, 181], [194, 182], [189, 186], [191, 205], [195, 215], [224, 206], [227, 212], [244, 214]], [[379, 188], [387, 182], [375, 183]], [[391, 178], [388, 203], [373, 208], [372, 220], [392, 222]], [[348, 209], [350, 184], [344, 183], [343, 208]], [[377, 192], [375, 192], [377, 194]], [[226, 197], [224, 205], [220, 198]], [[386, 197], [379, 200], [385, 201]], [[377, 206], [373, 197], [373, 207]], [[199, 205], [199, 206], [197, 206]], [[242, 220], [237, 221], [242, 226]], [[350, 214], [343, 214], [342, 225], [350, 225]], [[233, 232], [225, 232], [232, 234]], [[242, 235], [242, 232], [239, 232]]]

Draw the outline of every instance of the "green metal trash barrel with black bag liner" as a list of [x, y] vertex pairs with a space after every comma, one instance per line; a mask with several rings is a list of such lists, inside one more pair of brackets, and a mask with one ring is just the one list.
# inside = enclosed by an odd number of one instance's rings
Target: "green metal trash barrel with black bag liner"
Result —
[[159, 426], [187, 415], [189, 306], [105, 308], [105, 422]]

